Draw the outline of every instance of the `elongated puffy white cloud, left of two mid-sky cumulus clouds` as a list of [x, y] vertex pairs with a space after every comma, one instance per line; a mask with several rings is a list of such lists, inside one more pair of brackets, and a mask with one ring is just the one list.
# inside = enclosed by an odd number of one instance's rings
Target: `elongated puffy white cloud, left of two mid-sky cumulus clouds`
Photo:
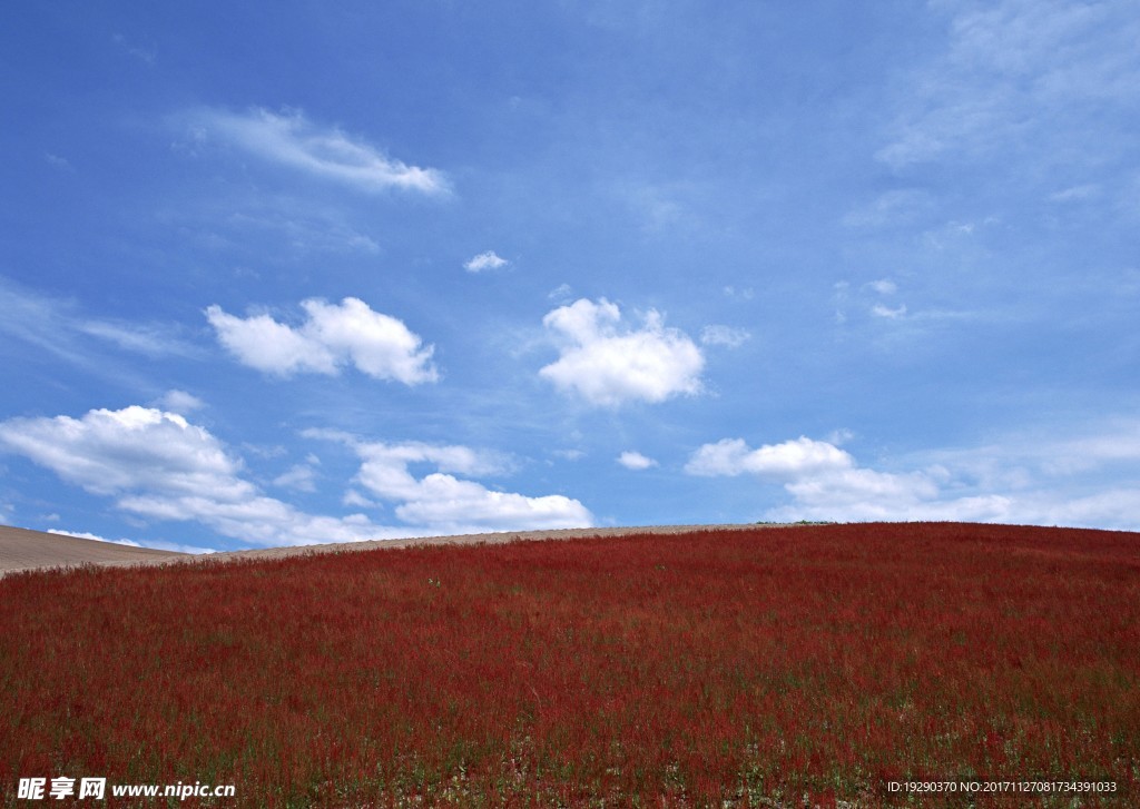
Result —
[[402, 321], [355, 297], [339, 305], [310, 299], [301, 307], [308, 319], [299, 328], [268, 314], [238, 318], [218, 305], [206, 309], [206, 319], [238, 361], [268, 374], [336, 374], [351, 363], [368, 376], [406, 385], [439, 378], [433, 346], [424, 346]]

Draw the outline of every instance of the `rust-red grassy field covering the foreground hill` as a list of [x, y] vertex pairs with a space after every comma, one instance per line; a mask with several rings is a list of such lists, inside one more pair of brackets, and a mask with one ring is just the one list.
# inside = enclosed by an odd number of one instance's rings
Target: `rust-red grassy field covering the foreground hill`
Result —
[[1135, 533], [82, 569], [0, 580], [0, 806], [63, 776], [234, 784], [225, 806], [1140, 804]]

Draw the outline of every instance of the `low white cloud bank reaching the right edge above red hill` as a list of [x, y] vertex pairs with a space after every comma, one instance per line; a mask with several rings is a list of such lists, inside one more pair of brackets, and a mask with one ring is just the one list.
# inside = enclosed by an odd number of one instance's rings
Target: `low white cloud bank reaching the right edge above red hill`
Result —
[[[693, 475], [755, 475], [791, 501], [767, 520], [960, 520], [1140, 529], [1140, 425], [1114, 423], [1075, 439], [1012, 440], [928, 452], [917, 468], [862, 467], [832, 443], [800, 438], [751, 449], [741, 439], [700, 447]], [[1132, 469], [1132, 483], [1127, 483]], [[1110, 469], [1108, 484], [1097, 473]], [[1091, 493], [1089, 490], [1092, 490]]]

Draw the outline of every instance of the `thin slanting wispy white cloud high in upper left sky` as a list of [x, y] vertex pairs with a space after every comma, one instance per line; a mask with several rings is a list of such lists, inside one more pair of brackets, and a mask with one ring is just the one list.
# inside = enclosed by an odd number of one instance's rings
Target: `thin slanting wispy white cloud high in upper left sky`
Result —
[[365, 191], [390, 188], [429, 195], [447, 194], [447, 179], [435, 169], [407, 165], [335, 126], [318, 126], [292, 111], [254, 108], [246, 113], [203, 109], [189, 115], [196, 141], [214, 136], [262, 160], [341, 182]]

